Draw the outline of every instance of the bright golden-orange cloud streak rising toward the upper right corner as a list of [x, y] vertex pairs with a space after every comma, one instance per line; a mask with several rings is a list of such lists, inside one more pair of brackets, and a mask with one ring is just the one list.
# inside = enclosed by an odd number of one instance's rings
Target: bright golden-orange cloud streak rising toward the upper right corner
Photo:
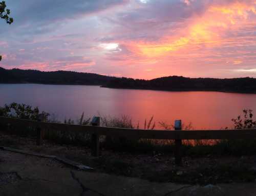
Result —
[[255, 6], [256, 2], [210, 6], [203, 16], [187, 22], [178, 35], [165, 36], [158, 42], [134, 43], [133, 51], [145, 58], [161, 58], [189, 45], [222, 44], [226, 30], [242, 27], [249, 14], [256, 14]]

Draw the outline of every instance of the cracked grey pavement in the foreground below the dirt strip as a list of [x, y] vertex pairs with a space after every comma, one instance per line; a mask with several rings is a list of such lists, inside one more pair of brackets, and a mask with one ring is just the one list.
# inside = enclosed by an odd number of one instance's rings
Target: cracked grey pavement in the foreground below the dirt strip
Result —
[[253, 183], [191, 185], [85, 171], [44, 158], [0, 149], [1, 196], [224, 196], [256, 192]]

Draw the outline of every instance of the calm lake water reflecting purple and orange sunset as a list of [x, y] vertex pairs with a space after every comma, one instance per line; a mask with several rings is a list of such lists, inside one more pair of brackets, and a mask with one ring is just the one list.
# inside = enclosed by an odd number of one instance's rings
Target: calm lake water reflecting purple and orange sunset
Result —
[[[12, 102], [38, 106], [56, 118], [86, 116], [131, 116], [134, 124], [154, 115], [156, 122], [182, 119], [194, 128], [231, 127], [231, 118], [252, 109], [256, 114], [256, 94], [223, 92], [167, 92], [126, 90], [99, 86], [0, 84], [0, 106]], [[158, 127], [159, 128], [159, 127]]]

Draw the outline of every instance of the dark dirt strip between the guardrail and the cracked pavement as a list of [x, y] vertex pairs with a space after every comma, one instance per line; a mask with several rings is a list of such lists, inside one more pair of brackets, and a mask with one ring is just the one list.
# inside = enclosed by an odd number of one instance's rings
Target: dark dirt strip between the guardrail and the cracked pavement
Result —
[[256, 155], [183, 157], [182, 166], [176, 166], [172, 154], [122, 153], [103, 149], [101, 156], [93, 157], [90, 149], [85, 146], [60, 145], [48, 140], [44, 140], [41, 146], [37, 146], [35, 138], [3, 133], [0, 133], [0, 145], [68, 158], [103, 173], [138, 177], [155, 182], [203, 185], [256, 180]]

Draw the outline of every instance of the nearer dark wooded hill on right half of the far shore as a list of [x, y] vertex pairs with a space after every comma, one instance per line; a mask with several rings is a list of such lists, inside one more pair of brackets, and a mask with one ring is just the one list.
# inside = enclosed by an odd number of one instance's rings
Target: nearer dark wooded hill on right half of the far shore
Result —
[[249, 77], [233, 79], [185, 78], [181, 76], [162, 77], [153, 80], [115, 78], [104, 87], [168, 91], [225, 91], [255, 93], [256, 79]]

